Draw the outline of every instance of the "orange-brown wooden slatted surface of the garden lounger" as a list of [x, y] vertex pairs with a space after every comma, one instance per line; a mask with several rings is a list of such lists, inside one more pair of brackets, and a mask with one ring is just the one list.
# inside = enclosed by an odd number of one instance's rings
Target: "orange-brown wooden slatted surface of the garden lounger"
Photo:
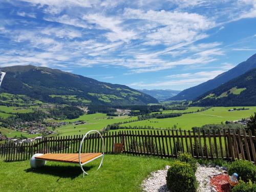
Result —
[[[102, 153], [82, 153], [81, 154], [81, 163], [85, 163], [94, 158], [101, 156]], [[35, 157], [35, 159], [48, 160], [48, 161], [61, 161], [67, 163], [79, 163], [78, 153], [73, 154], [44, 154]]]

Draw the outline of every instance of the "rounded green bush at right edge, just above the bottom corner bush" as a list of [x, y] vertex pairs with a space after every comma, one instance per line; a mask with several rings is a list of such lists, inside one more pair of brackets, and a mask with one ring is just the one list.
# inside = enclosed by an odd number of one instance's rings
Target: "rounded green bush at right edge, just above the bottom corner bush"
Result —
[[246, 160], [236, 160], [228, 165], [228, 174], [237, 173], [243, 181], [256, 181], [256, 166]]

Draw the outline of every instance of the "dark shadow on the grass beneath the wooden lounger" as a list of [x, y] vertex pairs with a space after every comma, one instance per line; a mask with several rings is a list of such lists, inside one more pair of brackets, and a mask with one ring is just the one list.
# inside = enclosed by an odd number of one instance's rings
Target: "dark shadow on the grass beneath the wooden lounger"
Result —
[[[95, 168], [95, 166], [83, 166], [83, 169], [87, 172], [91, 168]], [[76, 177], [82, 175], [82, 170], [80, 166], [63, 166], [63, 165], [45, 165], [40, 168], [27, 168], [25, 169], [26, 173], [36, 173], [36, 174], [46, 174], [57, 176], [60, 178], [71, 178], [75, 179]]]

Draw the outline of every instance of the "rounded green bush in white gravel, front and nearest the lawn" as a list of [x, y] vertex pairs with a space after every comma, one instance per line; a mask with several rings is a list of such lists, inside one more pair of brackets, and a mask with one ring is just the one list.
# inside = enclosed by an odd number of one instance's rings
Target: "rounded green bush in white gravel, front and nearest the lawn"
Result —
[[175, 161], [167, 171], [166, 185], [172, 192], [196, 192], [198, 182], [189, 164]]

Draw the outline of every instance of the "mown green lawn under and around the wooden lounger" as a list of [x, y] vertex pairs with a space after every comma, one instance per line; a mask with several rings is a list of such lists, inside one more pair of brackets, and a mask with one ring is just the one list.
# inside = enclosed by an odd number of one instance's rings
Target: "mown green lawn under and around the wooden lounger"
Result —
[[163, 169], [172, 160], [154, 157], [105, 155], [103, 167], [96, 171], [99, 159], [86, 167], [82, 178], [78, 165], [47, 162], [31, 169], [29, 161], [0, 161], [0, 191], [140, 191], [140, 184], [151, 172]]

